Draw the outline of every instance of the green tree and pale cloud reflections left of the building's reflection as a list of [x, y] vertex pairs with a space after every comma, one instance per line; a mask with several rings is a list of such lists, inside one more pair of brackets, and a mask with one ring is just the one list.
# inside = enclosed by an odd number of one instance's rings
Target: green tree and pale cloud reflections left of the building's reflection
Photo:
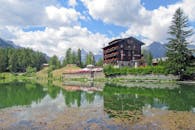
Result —
[[[58, 101], [63, 96], [63, 106], [80, 107], [94, 104], [94, 102], [103, 103], [103, 97], [99, 92], [88, 93], [86, 91], [68, 91], [61, 87], [51, 84], [40, 85], [33, 82], [11, 82], [0, 84], [0, 108], [13, 106], [39, 106]], [[71, 87], [71, 86], [68, 86]], [[74, 86], [75, 87], [75, 86]]]

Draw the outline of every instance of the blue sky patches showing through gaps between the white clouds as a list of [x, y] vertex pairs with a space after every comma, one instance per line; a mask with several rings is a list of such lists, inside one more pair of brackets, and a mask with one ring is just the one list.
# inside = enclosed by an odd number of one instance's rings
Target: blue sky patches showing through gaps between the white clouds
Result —
[[[69, 8], [67, 0], [58, 0], [61, 6], [65, 8]], [[148, 10], [158, 9], [160, 6], [167, 7], [170, 4], [175, 4], [179, 2], [179, 0], [155, 0], [151, 2], [151, 0], [141, 0], [141, 4]], [[75, 10], [78, 12], [86, 12], [87, 8], [83, 5], [81, 1], [77, 1], [77, 6]], [[90, 17], [90, 15], [87, 15]], [[101, 33], [106, 35], [109, 38], [117, 37], [120, 35], [121, 32], [128, 30], [128, 27], [122, 27], [114, 24], [107, 24], [102, 22], [101, 20], [94, 20], [90, 17], [90, 20], [80, 20], [80, 24], [82, 27], [88, 28], [93, 33]], [[26, 27], [23, 29], [24, 31], [43, 31], [45, 30], [44, 26], [33, 26], [33, 27]], [[139, 37], [138, 37], [139, 38]]]

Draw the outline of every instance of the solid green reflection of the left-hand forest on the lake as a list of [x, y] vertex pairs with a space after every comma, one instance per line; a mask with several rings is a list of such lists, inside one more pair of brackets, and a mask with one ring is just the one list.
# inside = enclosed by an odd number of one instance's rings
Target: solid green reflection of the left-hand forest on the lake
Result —
[[43, 87], [31, 82], [11, 82], [0, 84], [0, 108], [38, 103], [46, 95]]

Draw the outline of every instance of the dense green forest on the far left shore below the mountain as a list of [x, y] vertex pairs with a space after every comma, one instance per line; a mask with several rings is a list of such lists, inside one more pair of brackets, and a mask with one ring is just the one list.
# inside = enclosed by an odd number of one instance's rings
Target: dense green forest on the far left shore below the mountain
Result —
[[28, 67], [40, 70], [46, 55], [29, 48], [0, 48], [0, 72], [26, 72]]

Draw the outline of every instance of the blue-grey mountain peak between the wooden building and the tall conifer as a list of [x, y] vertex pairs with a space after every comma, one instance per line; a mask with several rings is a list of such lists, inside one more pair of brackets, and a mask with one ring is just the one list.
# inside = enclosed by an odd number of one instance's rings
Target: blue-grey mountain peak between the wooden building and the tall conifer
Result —
[[160, 42], [153, 42], [146, 49], [151, 52], [153, 58], [165, 57], [166, 55], [166, 45]]

